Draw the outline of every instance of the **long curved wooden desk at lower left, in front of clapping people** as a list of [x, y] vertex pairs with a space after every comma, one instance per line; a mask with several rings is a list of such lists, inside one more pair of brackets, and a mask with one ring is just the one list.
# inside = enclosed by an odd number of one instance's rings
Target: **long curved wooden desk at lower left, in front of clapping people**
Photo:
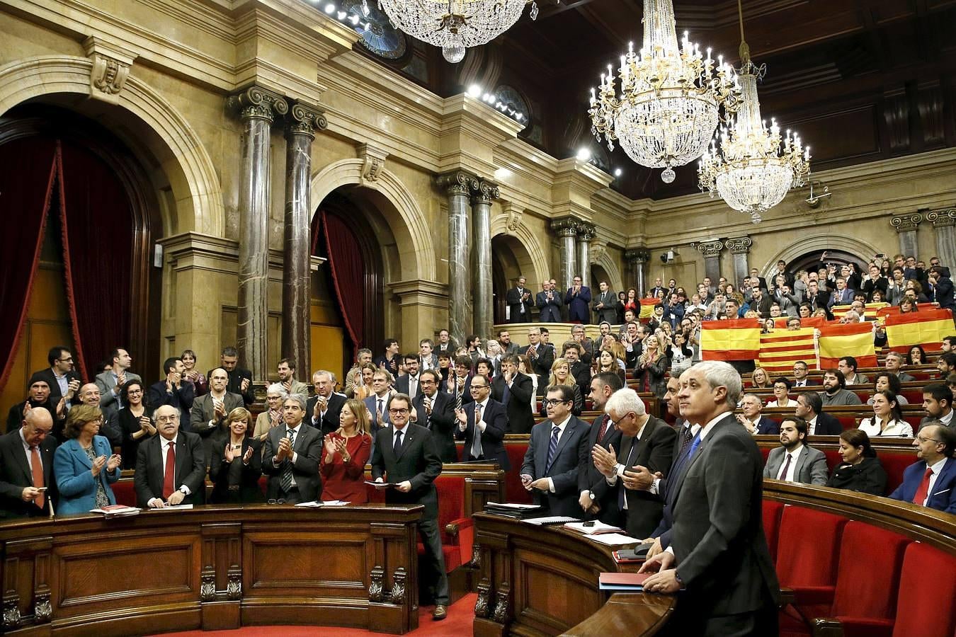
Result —
[[3, 629], [418, 627], [420, 505], [200, 506], [0, 524]]

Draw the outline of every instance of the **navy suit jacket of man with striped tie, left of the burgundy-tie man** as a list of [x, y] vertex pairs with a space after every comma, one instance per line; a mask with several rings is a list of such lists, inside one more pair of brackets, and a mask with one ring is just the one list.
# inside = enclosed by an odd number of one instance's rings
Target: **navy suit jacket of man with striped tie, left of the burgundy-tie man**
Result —
[[557, 451], [551, 466], [548, 464], [548, 446], [551, 442], [552, 421], [545, 420], [532, 428], [532, 437], [521, 464], [521, 474], [532, 479], [552, 478], [554, 493], [534, 489], [534, 500], [544, 506], [553, 516], [583, 518], [584, 512], [577, 504], [577, 472], [581, 447], [588, 441], [588, 423], [571, 416], [558, 439]]

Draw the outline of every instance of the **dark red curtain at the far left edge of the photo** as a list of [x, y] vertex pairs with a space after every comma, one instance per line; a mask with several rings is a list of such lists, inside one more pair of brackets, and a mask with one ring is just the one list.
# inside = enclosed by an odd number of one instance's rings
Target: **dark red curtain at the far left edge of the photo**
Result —
[[[54, 140], [19, 138], [0, 146], [0, 391], [13, 365], [40, 260], [56, 177]], [[20, 170], [13, 167], [20, 166]]]

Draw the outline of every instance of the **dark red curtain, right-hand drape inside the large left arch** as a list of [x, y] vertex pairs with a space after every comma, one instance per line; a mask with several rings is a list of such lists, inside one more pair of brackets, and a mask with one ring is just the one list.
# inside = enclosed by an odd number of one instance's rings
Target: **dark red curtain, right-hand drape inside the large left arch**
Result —
[[[133, 211], [120, 180], [97, 156], [66, 145], [60, 157], [59, 215], [76, 362], [93, 377], [99, 360], [129, 347]], [[145, 352], [131, 354], [135, 361]]]

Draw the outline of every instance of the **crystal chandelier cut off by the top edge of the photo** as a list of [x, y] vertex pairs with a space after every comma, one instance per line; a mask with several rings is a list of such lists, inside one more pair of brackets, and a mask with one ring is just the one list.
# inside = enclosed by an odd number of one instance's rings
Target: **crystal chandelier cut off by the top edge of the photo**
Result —
[[536, 20], [534, 0], [379, 0], [396, 29], [442, 47], [452, 64], [465, 58], [467, 47], [486, 44], [511, 29], [525, 5], [532, 6]]

